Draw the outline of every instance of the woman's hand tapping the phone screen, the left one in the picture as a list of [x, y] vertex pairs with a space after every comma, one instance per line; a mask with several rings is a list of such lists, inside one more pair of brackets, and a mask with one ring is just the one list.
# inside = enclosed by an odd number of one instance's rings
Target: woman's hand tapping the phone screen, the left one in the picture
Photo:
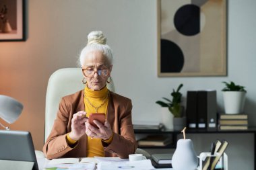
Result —
[[86, 112], [79, 111], [76, 114], [73, 114], [71, 120], [71, 132], [69, 133], [69, 138], [73, 140], [79, 140], [81, 136], [86, 134], [86, 122], [88, 118], [86, 117]]

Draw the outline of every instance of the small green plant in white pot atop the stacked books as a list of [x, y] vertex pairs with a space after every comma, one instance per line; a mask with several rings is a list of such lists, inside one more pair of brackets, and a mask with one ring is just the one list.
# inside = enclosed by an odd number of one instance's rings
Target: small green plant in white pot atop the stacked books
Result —
[[224, 83], [225, 87], [222, 89], [224, 98], [224, 108], [226, 114], [241, 114], [245, 104], [245, 94], [247, 91], [244, 86], [236, 85], [230, 81]]

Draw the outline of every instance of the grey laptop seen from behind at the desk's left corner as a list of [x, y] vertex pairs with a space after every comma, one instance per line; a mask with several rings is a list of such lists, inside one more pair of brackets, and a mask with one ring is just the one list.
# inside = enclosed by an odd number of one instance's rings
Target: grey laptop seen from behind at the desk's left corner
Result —
[[0, 130], [0, 160], [34, 162], [33, 170], [38, 170], [30, 132]]

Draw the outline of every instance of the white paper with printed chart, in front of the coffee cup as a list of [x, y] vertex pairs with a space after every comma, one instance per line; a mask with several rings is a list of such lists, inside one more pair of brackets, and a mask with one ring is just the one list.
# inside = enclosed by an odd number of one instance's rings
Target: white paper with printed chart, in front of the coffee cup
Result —
[[121, 161], [121, 162], [100, 162], [97, 165], [98, 170], [121, 170], [121, 169], [133, 169], [133, 170], [151, 170], [154, 169], [149, 159], [142, 161]]

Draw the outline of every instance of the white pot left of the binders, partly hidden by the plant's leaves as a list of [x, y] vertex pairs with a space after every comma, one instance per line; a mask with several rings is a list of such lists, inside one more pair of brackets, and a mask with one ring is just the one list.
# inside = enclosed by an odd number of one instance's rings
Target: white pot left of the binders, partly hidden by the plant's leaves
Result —
[[166, 130], [173, 130], [173, 115], [170, 113], [167, 107], [161, 108], [162, 124], [164, 124]]

